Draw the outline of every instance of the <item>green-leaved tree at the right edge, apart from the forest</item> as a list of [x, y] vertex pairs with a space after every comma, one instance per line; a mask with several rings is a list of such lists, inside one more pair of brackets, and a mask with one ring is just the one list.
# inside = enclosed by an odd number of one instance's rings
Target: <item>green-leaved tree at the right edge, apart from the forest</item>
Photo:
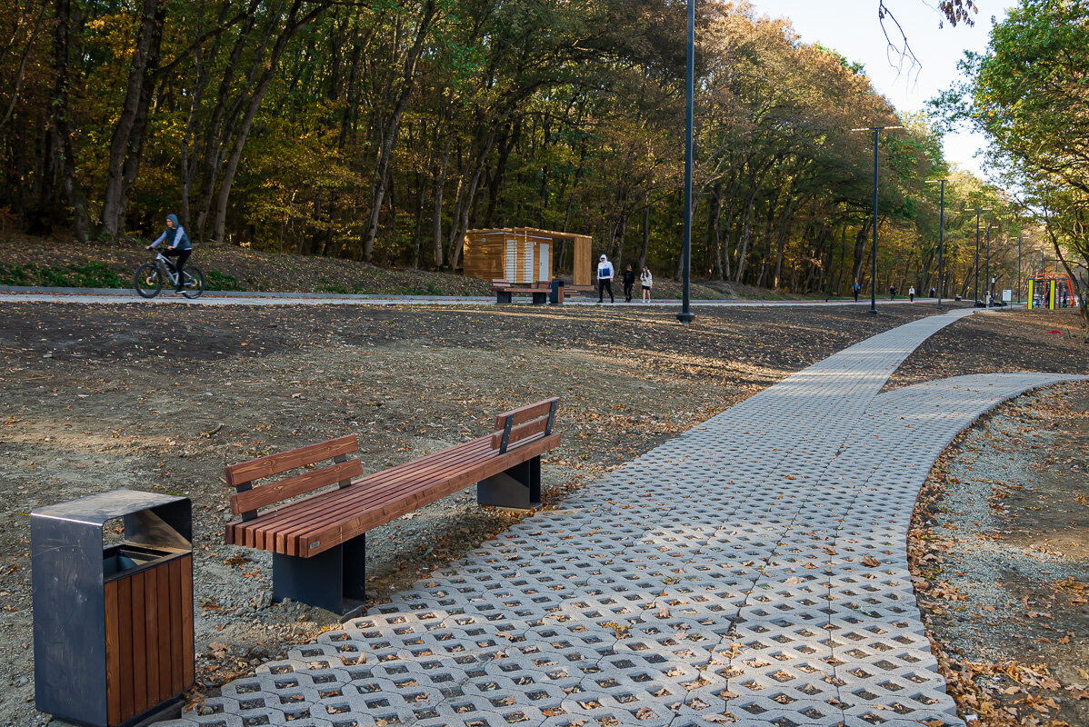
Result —
[[[967, 54], [967, 76], [938, 99], [952, 122], [988, 135], [988, 160], [1011, 186], [1025, 188], [1028, 209], [1047, 223], [1067, 271], [1067, 254], [1089, 262], [1089, 5], [1020, 0], [998, 24], [983, 53]], [[1084, 282], [1075, 284], [1089, 325]]]

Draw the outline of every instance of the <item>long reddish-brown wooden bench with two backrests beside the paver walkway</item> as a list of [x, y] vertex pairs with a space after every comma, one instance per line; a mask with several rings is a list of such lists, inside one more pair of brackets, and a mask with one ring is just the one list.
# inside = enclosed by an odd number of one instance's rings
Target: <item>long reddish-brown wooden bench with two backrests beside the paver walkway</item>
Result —
[[[231, 465], [224, 480], [236, 490], [231, 512], [241, 519], [227, 526], [227, 543], [272, 553], [274, 601], [356, 612], [364, 601], [368, 530], [472, 484], [481, 505], [540, 505], [541, 454], [560, 444], [552, 431], [559, 403], [549, 398], [504, 411], [490, 434], [366, 477], [359, 460], [348, 458], [359, 449], [354, 434]], [[271, 505], [279, 507], [259, 512]]]

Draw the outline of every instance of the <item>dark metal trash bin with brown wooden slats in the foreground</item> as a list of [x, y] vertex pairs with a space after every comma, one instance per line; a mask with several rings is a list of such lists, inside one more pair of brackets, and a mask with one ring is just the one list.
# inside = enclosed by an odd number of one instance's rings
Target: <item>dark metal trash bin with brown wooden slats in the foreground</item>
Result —
[[195, 666], [188, 497], [114, 490], [41, 507], [30, 554], [39, 711], [118, 727], [181, 700]]

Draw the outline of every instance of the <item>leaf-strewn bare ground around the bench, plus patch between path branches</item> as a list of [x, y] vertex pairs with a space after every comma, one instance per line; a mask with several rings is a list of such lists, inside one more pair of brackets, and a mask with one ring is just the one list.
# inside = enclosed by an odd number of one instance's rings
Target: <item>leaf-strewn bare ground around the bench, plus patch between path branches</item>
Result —
[[[878, 317], [860, 308], [721, 309], [682, 326], [672, 313], [643, 309], [5, 305], [0, 725], [45, 722], [33, 708], [36, 507], [122, 486], [193, 498], [198, 679], [213, 690], [335, 624], [326, 612], [271, 605], [267, 554], [221, 544], [225, 464], [355, 432], [365, 471], [377, 471], [479, 435], [498, 411], [559, 395], [564, 443], [544, 467], [554, 504], [790, 373], [932, 312], [927, 304]], [[1069, 330], [1076, 320], [976, 316], [935, 336], [962, 346], [955, 358], [945, 347], [920, 349], [904, 375], [993, 370], [996, 337], [1027, 368], [1089, 372], [1080, 340], [1042, 333], [1060, 324]], [[372, 597], [517, 517], [477, 507], [467, 491], [374, 531]]]

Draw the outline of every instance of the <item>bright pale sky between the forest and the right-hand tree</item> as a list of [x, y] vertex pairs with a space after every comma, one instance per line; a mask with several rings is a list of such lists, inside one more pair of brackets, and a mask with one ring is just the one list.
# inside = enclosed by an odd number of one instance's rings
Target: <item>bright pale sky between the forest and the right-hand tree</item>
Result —
[[[992, 14], [1005, 17], [1010, 0], [977, 0], [976, 25], [968, 27], [947, 22], [939, 29], [942, 16], [933, 0], [885, 0], [885, 7], [900, 21], [915, 56], [922, 67], [897, 71], [900, 59], [888, 51], [878, 20], [878, 0], [751, 0], [758, 13], [791, 19], [804, 42], [820, 42], [834, 48], [847, 60], [866, 66], [873, 87], [900, 111], [921, 111], [927, 101], [949, 88], [959, 77], [956, 64], [965, 50], [983, 51], [991, 29]], [[895, 24], [885, 20], [890, 38], [902, 41]], [[860, 124], [865, 125], [865, 124]], [[986, 146], [978, 134], [949, 134], [944, 140], [945, 158], [982, 176], [981, 159], [976, 152]]]

